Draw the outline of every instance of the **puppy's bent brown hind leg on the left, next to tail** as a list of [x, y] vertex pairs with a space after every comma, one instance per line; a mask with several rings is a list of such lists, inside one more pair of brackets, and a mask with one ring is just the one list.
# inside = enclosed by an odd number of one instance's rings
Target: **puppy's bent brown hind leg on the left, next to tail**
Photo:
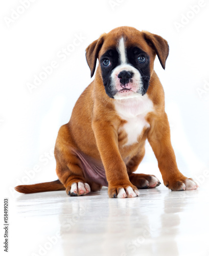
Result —
[[83, 196], [101, 189], [102, 186], [84, 177], [82, 163], [75, 154], [75, 148], [67, 124], [61, 126], [55, 145], [56, 173], [68, 196]]

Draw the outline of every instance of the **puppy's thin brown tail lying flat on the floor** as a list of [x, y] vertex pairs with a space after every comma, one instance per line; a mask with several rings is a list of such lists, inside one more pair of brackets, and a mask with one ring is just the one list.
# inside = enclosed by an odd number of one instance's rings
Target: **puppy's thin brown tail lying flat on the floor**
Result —
[[19, 185], [14, 188], [19, 193], [32, 194], [47, 191], [65, 190], [64, 185], [59, 181], [38, 183], [33, 185]]

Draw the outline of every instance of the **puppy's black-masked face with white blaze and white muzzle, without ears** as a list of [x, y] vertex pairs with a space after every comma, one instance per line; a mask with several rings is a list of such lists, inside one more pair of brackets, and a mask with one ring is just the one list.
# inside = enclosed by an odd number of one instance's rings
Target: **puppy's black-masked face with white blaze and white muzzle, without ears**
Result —
[[144, 95], [149, 86], [149, 54], [138, 46], [127, 47], [127, 40], [119, 38], [99, 59], [105, 91], [114, 99]]

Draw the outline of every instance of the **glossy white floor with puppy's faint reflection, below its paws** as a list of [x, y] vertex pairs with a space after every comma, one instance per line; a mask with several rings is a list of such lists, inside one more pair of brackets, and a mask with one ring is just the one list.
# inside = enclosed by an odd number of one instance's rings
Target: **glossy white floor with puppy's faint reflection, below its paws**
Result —
[[[11, 255], [209, 255], [208, 189], [109, 199], [65, 191], [19, 195], [10, 218]], [[16, 212], [16, 213], [15, 213]], [[14, 217], [15, 216], [15, 217]]]

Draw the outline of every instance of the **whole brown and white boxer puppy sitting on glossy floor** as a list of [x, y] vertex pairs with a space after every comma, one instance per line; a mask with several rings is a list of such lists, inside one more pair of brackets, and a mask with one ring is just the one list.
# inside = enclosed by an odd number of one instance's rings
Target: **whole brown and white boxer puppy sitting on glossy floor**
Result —
[[171, 190], [198, 185], [177, 167], [165, 112], [164, 90], [153, 70], [155, 56], [165, 69], [169, 54], [161, 36], [131, 27], [102, 34], [86, 49], [95, 80], [81, 94], [55, 145], [57, 181], [20, 185], [21, 193], [66, 189], [86, 195], [108, 186], [110, 198], [137, 197], [138, 188], [160, 184], [154, 175], [134, 174], [148, 139], [164, 184]]

